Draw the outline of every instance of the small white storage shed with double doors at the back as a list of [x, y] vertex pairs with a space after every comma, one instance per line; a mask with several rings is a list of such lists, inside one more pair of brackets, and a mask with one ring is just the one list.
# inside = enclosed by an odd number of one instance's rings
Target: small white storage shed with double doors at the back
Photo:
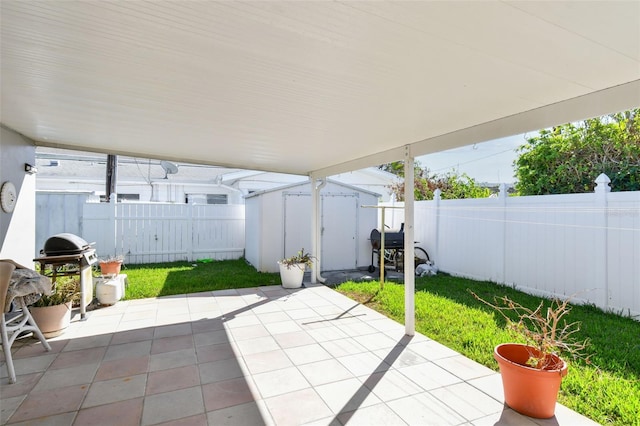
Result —
[[[379, 194], [328, 180], [320, 191], [322, 271], [371, 263], [369, 234], [376, 228]], [[258, 271], [277, 272], [278, 260], [311, 251], [311, 184], [282, 186], [245, 200], [245, 257]]]

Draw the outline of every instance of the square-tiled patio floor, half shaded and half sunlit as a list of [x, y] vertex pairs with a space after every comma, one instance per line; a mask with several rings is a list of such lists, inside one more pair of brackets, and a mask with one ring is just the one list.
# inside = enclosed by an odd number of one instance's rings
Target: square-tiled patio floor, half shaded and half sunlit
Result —
[[524, 417], [498, 373], [322, 285], [122, 301], [52, 352], [14, 344], [1, 424], [574, 425]]

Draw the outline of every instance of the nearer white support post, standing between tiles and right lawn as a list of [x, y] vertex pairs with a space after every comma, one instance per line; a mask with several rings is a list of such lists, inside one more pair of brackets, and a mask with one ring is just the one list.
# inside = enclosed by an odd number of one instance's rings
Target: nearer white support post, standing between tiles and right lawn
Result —
[[416, 333], [414, 263], [414, 158], [410, 146], [404, 153], [404, 330], [407, 336]]

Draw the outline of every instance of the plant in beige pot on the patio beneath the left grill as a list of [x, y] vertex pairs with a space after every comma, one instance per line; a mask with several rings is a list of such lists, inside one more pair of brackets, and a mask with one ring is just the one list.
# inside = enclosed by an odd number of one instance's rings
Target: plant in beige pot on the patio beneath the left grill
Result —
[[42, 295], [29, 307], [31, 316], [45, 337], [64, 333], [71, 322], [71, 308], [78, 302], [80, 282], [74, 277], [58, 277], [50, 295]]

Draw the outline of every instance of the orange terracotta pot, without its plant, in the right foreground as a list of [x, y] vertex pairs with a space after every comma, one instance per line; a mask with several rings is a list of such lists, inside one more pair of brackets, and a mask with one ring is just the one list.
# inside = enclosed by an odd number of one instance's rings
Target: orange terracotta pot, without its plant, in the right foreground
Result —
[[525, 416], [546, 419], [555, 413], [560, 384], [567, 375], [567, 364], [552, 355], [552, 364], [558, 368], [531, 368], [526, 365], [531, 353], [537, 353], [531, 346], [504, 343], [496, 346], [493, 357], [500, 366], [506, 404]]

